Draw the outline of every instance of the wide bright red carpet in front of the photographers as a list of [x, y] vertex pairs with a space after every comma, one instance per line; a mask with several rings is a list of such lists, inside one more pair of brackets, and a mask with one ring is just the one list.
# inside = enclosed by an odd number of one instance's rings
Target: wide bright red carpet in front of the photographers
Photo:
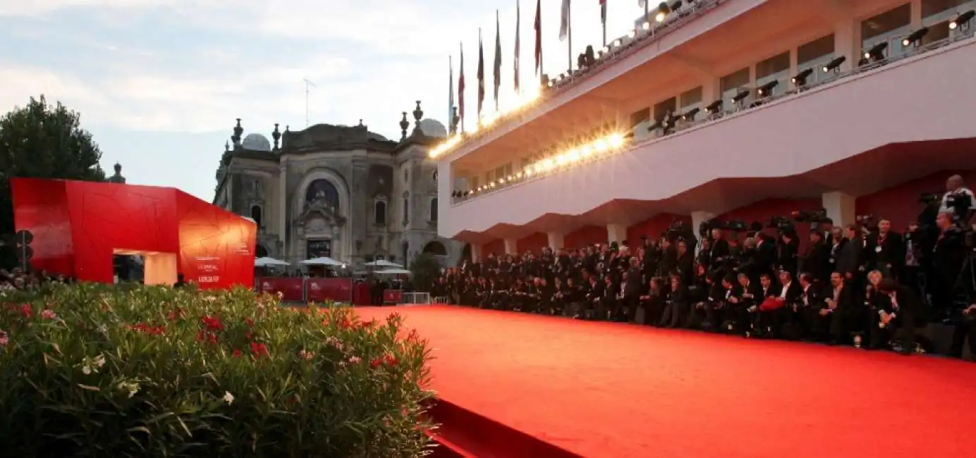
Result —
[[435, 408], [441, 435], [475, 456], [974, 456], [973, 363], [450, 306], [357, 310], [395, 310], [429, 339], [449, 410], [550, 444], [463, 443], [491, 441], [488, 427]]

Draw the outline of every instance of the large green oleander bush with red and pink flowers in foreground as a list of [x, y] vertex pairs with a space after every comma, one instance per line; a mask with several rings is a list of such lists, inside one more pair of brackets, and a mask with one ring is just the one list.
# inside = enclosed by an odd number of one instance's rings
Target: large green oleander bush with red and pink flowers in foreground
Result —
[[401, 324], [244, 289], [7, 292], [0, 454], [421, 456], [428, 351]]

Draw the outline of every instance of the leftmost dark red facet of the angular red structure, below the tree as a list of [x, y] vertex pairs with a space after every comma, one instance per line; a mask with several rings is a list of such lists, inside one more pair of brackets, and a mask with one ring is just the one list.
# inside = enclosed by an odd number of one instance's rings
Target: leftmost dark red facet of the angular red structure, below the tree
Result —
[[15, 178], [11, 190], [17, 204], [14, 206], [17, 230], [28, 230], [34, 235], [30, 244], [34, 250], [31, 265], [38, 270], [74, 275], [64, 182]]

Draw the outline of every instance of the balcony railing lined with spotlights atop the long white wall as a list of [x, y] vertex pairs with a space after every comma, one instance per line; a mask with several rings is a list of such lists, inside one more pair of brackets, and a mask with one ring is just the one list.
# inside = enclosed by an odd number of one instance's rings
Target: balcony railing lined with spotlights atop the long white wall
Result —
[[[812, 84], [809, 84], [809, 85], [800, 86], [798, 88], [795, 88], [795, 89], [793, 89], [791, 91], [788, 91], [788, 92], [786, 92], [784, 94], [781, 94], [781, 95], [770, 95], [770, 96], [762, 97], [762, 98], [760, 98], [760, 99], [752, 102], [748, 106], [735, 106], [733, 109], [728, 110], [728, 111], [717, 111], [717, 112], [715, 112], [713, 114], [710, 114], [710, 115], [708, 115], [708, 116], [706, 116], [706, 117], [704, 117], [702, 119], [684, 122], [680, 126], [675, 126], [674, 129], [668, 130], [667, 132], [665, 132], [663, 134], [659, 134], [657, 136], [652, 136], [652, 137], [643, 139], [641, 141], [632, 142], [630, 144], [624, 145], [624, 147], [622, 147], [622, 148], [617, 148], [617, 149], [610, 148], [610, 149], [606, 149], [602, 154], [590, 154], [590, 155], [583, 156], [583, 157], [576, 156], [571, 161], [550, 158], [549, 160], [544, 160], [544, 161], [551, 162], [552, 163], [552, 167], [545, 167], [545, 168], [542, 168], [541, 170], [539, 170], [539, 168], [535, 168], [535, 169], [533, 169], [531, 171], [519, 171], [519, 172], [515, 172], [515, 173], [513, 173], [512, 175], [510, 175], [510, 176], [508, 176], [506, 178], [498, 179], [496, 181], [493, 181], [491, 183], [486, 184], [485, 186], [481, 186], [480, 188], [478, 188], [476, 190], [455, 191], [455, 194], [460, 193], [461, 196], [457, 196], [457, 195], [452, 196], [451, 206], [454, 207], [454, 206], [464, 205], [464, 204], [466, 204], [468, 202], [475, 201], [475, 200], [477, 200], [478, 198], [480, 198], [482, 196], [489, 195], [489, 194], [493, 194], [493, 193], [499, 192], [499, 191], [501, 191], [503, 189], [508, 189], [510, 187], [518, 186], [518, 185], [520, 185], [522, 183], [527, 183], [527, 182], [534, 181], [534, 180], [537, 180], [537, 179], [545, 179], [546, 177], [548, 177], [549, 175], [554, 174], [554, 173], [562, 172], [562, 171], [565, 171], [565, 170], [568, 170], [568, 169], [574, 169], [576, 167], [580, 167], [580, 166], [583, 166], [583, 165], [586, 165], [586, 164], [592, 164], [592, 163], [597, 162], [597, 161], [602, 161], [604, 159], [607, 159], [607, 158], [616, 156], [619, 153], [631, 151], [633, 149], [636, 149], [636, 148], [639, 148], [639, 147], [643, 147], [643, 146], [645, 146], [647, 144], [650, 144], [650, 143], [659, 141], [663, 137], [669, 136], [671, 134], [676, 134], [676, 133], [683, 132], [683, 131], [687, 131], [687, 130], [690, 130], [690, 129], [693, 129], [693, 128], [700, 128], [700, 127], [703, 127], [705, 125], [711, 124], [712, 122], [717, 121], [717, 120], [720, 120], [720, 119], [723, 119], [723, 118], [732, 117], [732, 116], [738, 116], [740, 114], [743, 114], [743, 113], [752, 111], [753, 108], [757, 108], [757, 107], [762, 106], [762, 105], [766, 105], [766, 104], [769, 104], [769, 103], [772, 103], [772, 102], [775, 102], [775, 101], [779, 101], [779, 100], [782, 100], [782, 99], [786, 99], [786, 98], [790, 98], [790, 97], [793, 97], [793, 96], [796, 96], [796, 95], [800, 95], [800, 94], [806, 93], [806, 92], [808, 92], [808, 91], [810, 91], [810, 90], [812, 90], [814, 88], [820, 88], [820, 87], [824, 87], [824, 86], [827, 86], [827, 85], [831, 85], [831, 84], [836, 83], [837, 81], [844, 80], [844, 79], [850, 78], [852, 76], [856, 76], [856, 75], [860, 75], [860, 74], [863, 74], [863, 73], [867, 73], [867, 72], [873, 71], [873, 70], [875, 70], [875, 69], [877, 69], [879, 67], [885, 66], [885, 65], [887, 65], [889, 63], [892, 63], [892, 62], [897, 62], [899, 60], [904, 60], [904, 59], [907, 59], [907, 58], [910, 58], [910, 57], [915, 57], [915, 56], [918, 56], [918, 55], [922, 55], [922, 54], [925, 54], [925, 53], [929, 53], [929, 52], [932, 52], [934, 50], [938, 50], [940, 48], [945, 48], [945, 47], [947, 47], [949, 45], [952, 45], [952, 44], [954, 44], [956, 42], [960, 42], [960, 41], [964, 41], [964, 40], [971, 39], [971, 38], [973, 38], [974, 34], [976, 34], [976, 27], [968, 27], [965, 30], [958, 30], [957, 29], [956, 30], [956, 33], [953, 36], [949, 37], [949, 38], [945, 38], [945, 39], [942, 39], [942, 40], [934, 41], [932, 43], [928, 43], [928, 44], [923, 45], [923, 46], [917, 46], [917, 47], [914, 47], [914, 48], [910, 48], [910, 49], [906, 50], [905, 52], [900, 53], [898, 55], [890, 56], [890, 57], [884, 57], [884, 58], [877, 59], [877, 60], [874, 60], [874, 61], [871, 61], [871, 62], [867, 62], [867, 63], [864, 63], [863, 65], [857, 66], [857, 67], [855, 67], [853, 69], [850, 69], [850, 70], [847, 70], [847, 71], [834, 72], [834, 74], [832, 76], [830, 76], [828, 78], [824, 78], [824, 79], [822, 79], [822, 80], [820, 80], [820, 81], [818, 81], [816, 83], [812, 83]], [[897, 38], [897, 40], [900, 41], [903, 38], [905, 38], [905, 37], [899, 37], [899, 38]], [[819, 68], [819, 69], [815, 69], [815, 71], [816, 70], [823, 70], [823, 69], [822, 68]], [[752, 91], [752, 90], [750, 90], [750, 91]], [[681, 117], [681, 115], [676, 115], [676, 118], [680, 118], [680, 117]], [[532, 167], [532, 166], [530, 166], [530, 167]]]

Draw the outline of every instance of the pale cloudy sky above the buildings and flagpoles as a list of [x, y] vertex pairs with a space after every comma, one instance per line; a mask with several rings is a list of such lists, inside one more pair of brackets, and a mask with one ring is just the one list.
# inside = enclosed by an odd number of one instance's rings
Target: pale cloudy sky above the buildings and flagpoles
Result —
[[[563, 0], [542, 0], [543, 65], [568, 65], [559, 41]], [[626, 35], [637, 0], [607, 0], [607, 37]], [[245, 135], [274, 123], [356, 125], [399, 138], [401, 112], [422, 101], [448, 124], [465, 52], [468, 118], [476, 104], [478, 30], [485, 110], [492, 110], [496, 11], [503, 106], [514, 97], [516, 0], [0, 0], [0, 112], [31, 96], [81, 114], [102, 168], [129, 183], [173, 186], [206, 201], [241, 118]], [[600, 45], [598, 0], [571, 6], [574, 55]], [[522, 85], [534, 77], [535, 0], [521, 0]], [[594, 46], [598, 49], [597, 46]], [[575, 58], [575, 57], [574, 57]], [[454, 78], [449, 77], [453, 59]], [[412, 115], [411, 115], [412, 116]]]

